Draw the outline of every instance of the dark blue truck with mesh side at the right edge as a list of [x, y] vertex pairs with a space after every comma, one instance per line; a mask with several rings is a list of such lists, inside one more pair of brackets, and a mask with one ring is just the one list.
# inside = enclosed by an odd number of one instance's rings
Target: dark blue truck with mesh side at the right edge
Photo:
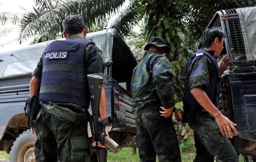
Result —
[[231, 143], [238, 154], [256, 161], [256, 7], [220, 10], [207, 28], [225, 32], [220, 61], [228, 55], [229, 68], [220, 80], [218, 109], [237, 124]]

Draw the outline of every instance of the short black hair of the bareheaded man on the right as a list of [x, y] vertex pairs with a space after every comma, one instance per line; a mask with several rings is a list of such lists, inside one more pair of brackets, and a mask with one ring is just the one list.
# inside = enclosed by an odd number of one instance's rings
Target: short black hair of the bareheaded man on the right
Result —
[[225, 38], [225, 33], [220, 27], [213, 27], [206, 29], [201, 36], [201, 46], [202, 48], [211, 47], [215, 38], [218, 38], [220, 41], [222, 38]]

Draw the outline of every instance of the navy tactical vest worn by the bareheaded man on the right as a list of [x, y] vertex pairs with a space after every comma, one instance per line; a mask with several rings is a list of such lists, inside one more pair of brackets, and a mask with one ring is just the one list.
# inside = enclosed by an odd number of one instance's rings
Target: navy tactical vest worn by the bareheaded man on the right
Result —
[[194, 96], [190, 93], [191, 89], [190, 89], [189, 79], [190, 79], [191, 73], [188, 72], [188, 69], [192, 64], [192, 61], [196, 57], [196, 54], [200, 54], [200, 53], [203, 54], [204, 56], [207, 56], [211, 60], [212, 67], [213, 67], [213, 71], [210, 74], [209, 85], [207, 86], [206, 89], [204, 89], [204, 91], [215, 106], [219, 102], [220, 86], [219, 86], [218, 63], [216, 59], [208, 51], [199, 49], [191, 56], [187, 64], [183, 103], [184, 105], [193, 106], [193, 107], [196, 107], [198, 110], [202, 109], [204, 111], [205, 109], [196, 101]]

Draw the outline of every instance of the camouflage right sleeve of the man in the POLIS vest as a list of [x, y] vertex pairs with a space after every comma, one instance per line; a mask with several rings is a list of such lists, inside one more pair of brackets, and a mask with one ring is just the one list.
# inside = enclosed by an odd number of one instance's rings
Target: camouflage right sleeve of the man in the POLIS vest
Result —
[[103, 78], [103, 84], [107, 84], [101, 50], [96, 45], [88, 45], [85, 49], [85, 55], [88, 58], [87, 73], [101, 76]]

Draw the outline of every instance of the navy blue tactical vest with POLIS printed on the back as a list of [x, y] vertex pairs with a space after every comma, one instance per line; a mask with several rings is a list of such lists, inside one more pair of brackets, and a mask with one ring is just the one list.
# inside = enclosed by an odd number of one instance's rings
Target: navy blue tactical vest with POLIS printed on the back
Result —
[[84, 68], [85, 39], [56, 40], [43, 53], [39, 100], [74, 103], [89, 107], [87, 72]]

